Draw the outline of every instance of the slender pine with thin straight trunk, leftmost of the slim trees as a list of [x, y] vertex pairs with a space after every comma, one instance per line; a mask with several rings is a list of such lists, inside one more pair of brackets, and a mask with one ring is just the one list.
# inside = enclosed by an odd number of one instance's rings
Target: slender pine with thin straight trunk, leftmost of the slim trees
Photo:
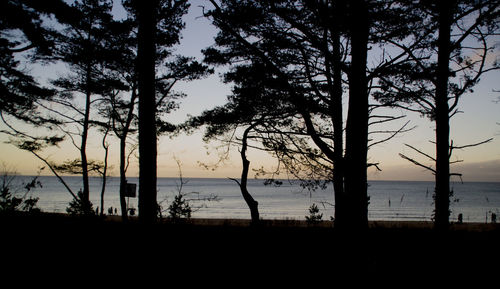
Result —
[[[81, 201], [83, 207], [88, 203], [90, 208], [87, 140], [91, 126], [98, 124], [91, 114], [92, 104], [96, 102], [97, 96], [102, 96], [112, 86], [103, 74], [108, 55], [104, 39], [108, 37], [108, 26], [112, 22], [112, 3], [105, 0], [84, 0], [75, 2], [73, 7], [82, 17], [80, 21], [71, 23], [64, 29], [58, 47], [61, 60], [69, 65], [71, 72], [52, 81], [59, 88], [58, 97], [53, 100], [58, 108], [47, 109], [61, 119], [64, 124], [60, 126], [61, 130], [71, 138], [79, 150], [80, 158], [66, 162], [61, 168], [68, 172], [81, 173]], [[80, 95], [83, 96], [83, 107], [79, 105]], [[70, 126], [74, 126], [76, 132], [72, 131]], [[75, 136], [80, 140], [76, 140]], [[92, 163], [97, 164], [95, 161]]]

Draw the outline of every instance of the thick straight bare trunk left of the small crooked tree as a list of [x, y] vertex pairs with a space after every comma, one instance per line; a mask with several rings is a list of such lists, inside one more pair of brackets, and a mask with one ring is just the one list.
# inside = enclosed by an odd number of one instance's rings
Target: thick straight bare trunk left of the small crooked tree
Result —
[[139, 78], [139, 219], [154, 223], [156, 202], [155, 27], [157, 1], [137, 1]]

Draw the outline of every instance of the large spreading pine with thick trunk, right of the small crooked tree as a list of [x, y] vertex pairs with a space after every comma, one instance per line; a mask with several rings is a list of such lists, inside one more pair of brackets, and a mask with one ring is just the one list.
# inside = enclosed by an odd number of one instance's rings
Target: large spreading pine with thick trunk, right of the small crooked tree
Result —
[[[368, 127], [370, 113], [376, 108], [369, 103], [369, 84], [384, 69], [401, 61], [401, 57], [393, 56], [369, 68], [368, 44], [404, 38], [408, 29], [400, 28], [402, 22], [387, 20], [391, 19], [389, 15], [397, 18], [399, 11], [388, 1], [211, 2], [215, 9], [207, 16], [221, 33], [216, 38], [217, 47], [205, 50], [206, 60], [237, 63], [233, 65], [236, 68], [264, 67], [253, 78], [267, 78], [259, 83], [268, 89], [269, 98], [277, 99], [269, 102], [269, 107], [278, 101], [293, 107], [294, 113], [282, 122], [283, 127], [267, 130], [263, 145], [288, 163], [291, 172], [292, 164], [299, 163], [311, 172], [324, 170], [316, 176], [334, 181], [336, 225], [366, 227]], [[374, 23], [385, 29], [376, 30]], [[230, 80], [241, 87], [249, 86], [244, 77]], [[344, 88], [349, 89], [345, 125]], [[397, 118], [382, 118], [371, 124], [389, 119]]]

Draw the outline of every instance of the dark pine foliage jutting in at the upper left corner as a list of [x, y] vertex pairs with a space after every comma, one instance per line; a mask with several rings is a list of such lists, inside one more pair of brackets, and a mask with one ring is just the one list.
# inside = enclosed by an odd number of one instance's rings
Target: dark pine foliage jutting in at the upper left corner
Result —
[[[38, 125], [45, 119], [36, 110], [36, 101], [49, 99], [54, 91], [40, 86], [23, 69], [24, 63], [54, 59], [58, 32], [44, 20], [55, 16], [61, 22], [71, 21], [74, 14], [62, 0], [9, 0], [0, 4], [0, 115]], [[24, 56], [24, 57], [23, 57]], [[16, 134], [13, 131], [4, 131]]]

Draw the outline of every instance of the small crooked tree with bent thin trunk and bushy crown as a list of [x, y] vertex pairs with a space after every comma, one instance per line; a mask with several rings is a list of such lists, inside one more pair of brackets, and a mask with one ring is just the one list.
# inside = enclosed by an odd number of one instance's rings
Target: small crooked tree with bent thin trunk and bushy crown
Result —
[[[247, 150], [249, 147], [255, 147], [252, 145], [255, 141], [269, 139], [266, 133], [276, 130], [276, 127], [284, 127], [281, 122], [287, 122], [287, 117], [290, 117], [288, 104], [274, 97], [276, 90], [281, 88], [279, 81], [273, 81], [271, 75], [262, 76], [266, 74], [268, 72], [265, 66], [236, 67], [225, 75], [225, 81], [238, 83], [233, 88], [233, 95], [228, 98], [228, 103], [204, 111], [200, 116], [192, 117], [181, 125], [188, 131], [205, 126], [205, 141], [227, 136], [224, 142], [228, 146], [232, 144], [239, 146], [242, 162], [241, 178], [231, 179], [240, 187], [243, 199], [250, 209], [253, 224], [259, 222], [259, 210], [258, 202], [247, 188], [250, 170]], [[291, 113], [295, 114], [293, 111]], [[241, 130], [243, 131], [240, 133]], [[263, 146], [258, 149], [272, 152], [271, 149]]]

